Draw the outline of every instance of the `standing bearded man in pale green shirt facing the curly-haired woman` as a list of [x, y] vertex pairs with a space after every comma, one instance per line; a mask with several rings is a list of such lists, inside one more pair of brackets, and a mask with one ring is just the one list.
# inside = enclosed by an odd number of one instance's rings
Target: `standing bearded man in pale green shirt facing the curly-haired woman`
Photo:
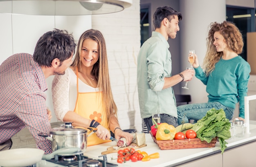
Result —
[[153, 15], [155, 31], [141, 46], [138, 55], [137, 83], [141, 118], [148, 128], [153, 125], [152, 114], [161, 114], [161, 123], [177, 126], [176, 100], [172, 86], [190, 81], [194, 70], [171, 75], [171, 53], [168, 38], [174, 39], [179, 28], [181, 13], [169, 6], [158, 7]]

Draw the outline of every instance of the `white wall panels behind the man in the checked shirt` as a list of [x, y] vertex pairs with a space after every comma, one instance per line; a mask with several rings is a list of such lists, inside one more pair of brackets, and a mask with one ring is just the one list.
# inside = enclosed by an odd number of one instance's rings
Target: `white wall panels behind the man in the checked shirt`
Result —
[[[47, 31], [66, 29], [73, 33], [75, 40], [91, 28], [91, 16], [35, 16], [35, 15], [11, 15], [0, 13], [0, 64], [7, 57], [15, 53], [30, 53], [33, 55], [36, 42]], [[4, 24], [3, 24], [4, 23]], [[52, 111], [51, 122], [56, 122], [56, 116], [52, 106], [52, 79], [47, 78], [48, 90], [47, 106]]]

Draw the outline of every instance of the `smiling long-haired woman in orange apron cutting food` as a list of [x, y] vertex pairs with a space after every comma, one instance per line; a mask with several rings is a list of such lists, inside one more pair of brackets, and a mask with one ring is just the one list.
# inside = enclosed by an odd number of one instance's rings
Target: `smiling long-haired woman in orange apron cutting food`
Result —
[[100, 31], [90, 29], [81, 35], [72, 65], [52, 81], [52, 98], [57, 119], [79, 128], [97, 127], [88, 137], [88, 146], [109, 142], [110, 130], [115, 138], [124, 137], [131, 143], [132, 135], [123, 132], [117, 120], [106, 43]]

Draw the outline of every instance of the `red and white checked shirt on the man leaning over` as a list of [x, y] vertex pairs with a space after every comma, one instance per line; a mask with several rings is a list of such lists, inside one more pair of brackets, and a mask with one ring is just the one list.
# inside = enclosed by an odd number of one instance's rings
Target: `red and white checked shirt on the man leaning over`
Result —
[[38, 136], [39, 133], [49, 134], [51, 130], [45, 90], [45, 76], [32, 55], [12, 55], [1, 64], [0, 143], [27, 127], [38, 149], [45, 154], [52, 152], [50, 141]]

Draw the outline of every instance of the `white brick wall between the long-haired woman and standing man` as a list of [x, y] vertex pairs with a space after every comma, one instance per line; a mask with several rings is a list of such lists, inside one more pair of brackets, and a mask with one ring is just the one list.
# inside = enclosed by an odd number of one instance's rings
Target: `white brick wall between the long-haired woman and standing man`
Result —
[[111, 87], [122, 129], [141, 132], [137, 91], [137, 55], [140, 48], [140, 4], [117, 13], [92, 15], [92, 29], [105, 37]]

